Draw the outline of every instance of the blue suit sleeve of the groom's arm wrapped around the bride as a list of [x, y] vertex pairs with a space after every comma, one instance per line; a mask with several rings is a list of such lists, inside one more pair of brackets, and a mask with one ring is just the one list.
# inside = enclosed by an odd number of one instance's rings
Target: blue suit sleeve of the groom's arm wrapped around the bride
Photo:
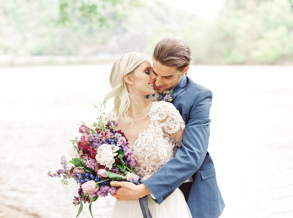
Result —
[[209, 109], [212, 92], [203, 90], [195, 100], [186, 123], [182, 146], [176, 156], [144, 181], [160, 204], [202, 165], [209, 142]]

